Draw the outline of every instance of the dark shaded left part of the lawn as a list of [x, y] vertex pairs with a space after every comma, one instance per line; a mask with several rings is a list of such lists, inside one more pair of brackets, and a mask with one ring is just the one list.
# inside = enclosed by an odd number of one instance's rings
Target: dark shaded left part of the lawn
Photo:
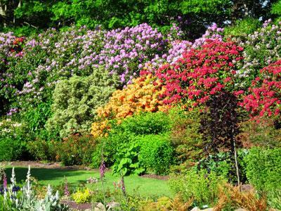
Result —
[[[6, 174], [8, 178], [8, 183], [10, 182], [11, 173], [12, 173], [13, 167], [7, 167], [6, 168]], [[93, 172], [89, 172], [89, 174], [93, 174]], [[63, 181], [64, 177], [77, 177], [77, 180], [74, 182], [83, 181], [81, 180], [81, 175], [85, 175], [85, 172], [83, 171], [77, 171], [77, 170], [58, 170], [58, 169], [46, 169], [46, 168], [33, 168], [31, 169], [32, 177], [35, 177], [38, 179], [39, 183], [40, 181], [43, 181], [43, 183], [46, 183], [46, 181]], [[17, 182], [21, 182], [26, 179], [27, 175], [27, 167], [15, 167], [15, 178]], [[72, 183], [72, 181], [70, 181]]]

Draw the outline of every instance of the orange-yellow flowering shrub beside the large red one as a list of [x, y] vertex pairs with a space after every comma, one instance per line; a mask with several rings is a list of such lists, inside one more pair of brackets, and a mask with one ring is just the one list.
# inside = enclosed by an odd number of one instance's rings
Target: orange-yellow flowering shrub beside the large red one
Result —
[[93, 122], [91, 134], [93, 136], [107, 136], [112, 121], [117, 124], [122, 119], [135, 113], [157, 112], [166, 110], [159, 95], [163, 94], [164, 87], [155, 77], [143, 75], [133, 79], [133, 83], [122, 90], [117, 90], [112, 94], [110, 101], [103, 107], [97, 109], [96, 122]]

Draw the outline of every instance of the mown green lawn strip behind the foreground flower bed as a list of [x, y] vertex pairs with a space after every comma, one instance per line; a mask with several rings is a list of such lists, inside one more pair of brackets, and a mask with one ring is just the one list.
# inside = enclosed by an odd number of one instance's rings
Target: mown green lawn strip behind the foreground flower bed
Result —
[[[8, 178], [11, 177], [12, 167], [6, 167]], [[17, 182], [24, 180], [27, 174], [27, 167], [15, 167], [15, 177]], [[39, 184], [57, 186], [61, 184], [64, 177], [70, 185], [75, 186], [79, 182], [85, 182], [89, 177], [99, 178], [98, 171], [87, 171], [87, 170], [55, 170], [55, 169], [44, 169], [44, 168], [33, 168], [31, 170], [32, 177], [39, 180]], [[113, 182], [119, 181], [120, 178], [112, 176], [110, 172], [105, 174], [105, 188], [114, 189]], [[129, 176], [124, 178], [126, 191], [128, 193], [137, 193], [141, 196], [159, 197], [169, 196], [172, 197], [173, 193], [167, 184], [167, 181], [143, 178], [138, 176]], [[100, 186], [100, 182], [98, 186]]]

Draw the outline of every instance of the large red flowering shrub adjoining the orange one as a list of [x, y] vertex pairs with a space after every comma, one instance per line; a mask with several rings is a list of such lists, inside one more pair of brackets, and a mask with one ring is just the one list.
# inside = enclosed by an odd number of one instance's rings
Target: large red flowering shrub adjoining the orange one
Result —
[[230, 90], [242, 50], [233, 42], [210, 40], [201, 49], [183, 53], [174, 65], [163, 65], [156, 75], [165, 84], [164, 103], [184, 100], [196, 106], [205, 103], [210, 95]]

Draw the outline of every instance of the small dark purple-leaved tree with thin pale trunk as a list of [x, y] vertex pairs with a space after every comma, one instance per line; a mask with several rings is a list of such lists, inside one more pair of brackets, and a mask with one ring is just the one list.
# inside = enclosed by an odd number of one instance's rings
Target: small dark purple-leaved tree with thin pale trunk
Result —
[[204, 151], [208, 155], [217, 154], [219, 151], [229, 152], [233, 166], [230, 174], [231, 176], [236, 174], [239, 185], [237, 147], [240, 143], [235, 137], [240, 133], [239, 122], [242, 120], [242, 115], [238, 111], [237, 98], [230, 92], [222, 92], [212, 96], [206, 106], [206, 110], [202, 113], [200, 127], [200, 132], [205, 139]]

